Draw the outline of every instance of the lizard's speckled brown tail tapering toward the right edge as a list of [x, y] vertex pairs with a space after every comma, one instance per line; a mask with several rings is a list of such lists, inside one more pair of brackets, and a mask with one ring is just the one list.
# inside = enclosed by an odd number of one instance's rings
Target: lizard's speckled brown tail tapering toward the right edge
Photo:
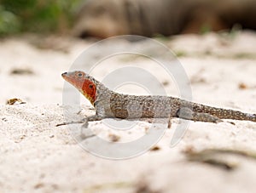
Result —
[[256, 122], [256, 114], [246, 113], [235, 110], [221, 109], [207, 105], [193, 105], [193, 111], [196, 112], [205, 112], [212, 116], [217, 116], [220, 119], [234, 119], [234, 120], [243, 120]]

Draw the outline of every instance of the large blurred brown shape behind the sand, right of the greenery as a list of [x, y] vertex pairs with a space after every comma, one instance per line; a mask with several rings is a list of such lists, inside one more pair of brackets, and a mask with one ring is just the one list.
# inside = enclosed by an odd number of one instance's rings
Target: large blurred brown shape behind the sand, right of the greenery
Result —
[[256, 29], [255, 0], [87, 0], [73, 35], [152, 37], [220, 31], [237, 25]]

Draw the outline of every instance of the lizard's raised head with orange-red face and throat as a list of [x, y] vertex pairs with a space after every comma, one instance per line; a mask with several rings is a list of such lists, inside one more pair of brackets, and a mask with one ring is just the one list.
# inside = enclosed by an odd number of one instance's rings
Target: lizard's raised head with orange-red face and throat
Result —
[[96, 101], [96, 81], [84, 71], [64, 72], [61, 76], [90, 101], [92, 105]]

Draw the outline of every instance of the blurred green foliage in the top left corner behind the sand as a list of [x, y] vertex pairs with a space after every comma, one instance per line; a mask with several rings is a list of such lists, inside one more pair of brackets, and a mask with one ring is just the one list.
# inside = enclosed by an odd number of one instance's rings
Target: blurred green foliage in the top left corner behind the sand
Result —
[[35, 33], [67, 33], [81, 0], [0, 1], [0, 35]]

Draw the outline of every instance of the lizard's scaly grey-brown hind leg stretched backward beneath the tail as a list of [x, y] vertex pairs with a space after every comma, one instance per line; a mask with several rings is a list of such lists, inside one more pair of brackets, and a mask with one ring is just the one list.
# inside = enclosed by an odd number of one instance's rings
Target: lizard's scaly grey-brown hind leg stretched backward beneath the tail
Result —
[[203, 112], [194, 112], [190, 110], [188, 107], [182, 107], [177, 111], [177, 117], [191, 120], [191, 121], [197, 121], [197, 122], [223, 122], [220, 118], [217, 116], [212, 116], [208, 113]]

